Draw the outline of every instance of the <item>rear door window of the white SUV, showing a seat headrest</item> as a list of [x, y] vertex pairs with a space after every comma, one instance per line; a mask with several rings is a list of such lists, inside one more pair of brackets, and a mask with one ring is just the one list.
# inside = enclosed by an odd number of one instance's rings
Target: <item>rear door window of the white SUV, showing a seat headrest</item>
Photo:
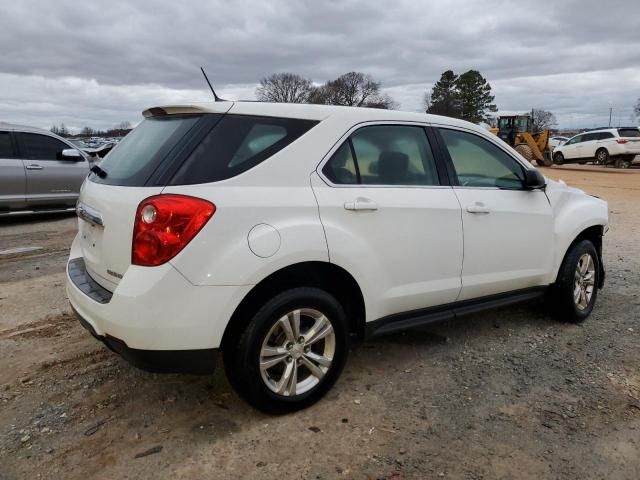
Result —
[[351, 136], [351, 142], [365, 185], [439, 185], [422, 127], [363, 127]]

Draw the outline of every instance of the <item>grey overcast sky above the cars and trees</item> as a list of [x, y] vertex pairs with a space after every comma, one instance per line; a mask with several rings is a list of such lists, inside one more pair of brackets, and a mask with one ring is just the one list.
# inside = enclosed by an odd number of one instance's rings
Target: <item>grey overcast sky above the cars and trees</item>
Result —
[[503, 110], [560, 127], [629, 125], [640, 97], [640, 5], [607, 2], [2, 1], [0, 121], [79, 129], [153, 105], [254, 98], [265, 75], [362, 71], [403, 110], [447, 69], [480, 70]]

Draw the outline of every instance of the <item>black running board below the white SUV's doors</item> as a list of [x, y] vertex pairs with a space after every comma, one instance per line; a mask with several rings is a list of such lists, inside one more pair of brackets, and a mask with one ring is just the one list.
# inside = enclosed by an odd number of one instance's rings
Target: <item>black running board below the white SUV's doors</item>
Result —
[[374, 320], [366, 325], [366, 336], [374, 337], [422, 327], [431, 323], [454, 320], [473, 313], [493, 310], [517, 303], [535, 300], [544, 296], [546, 287], [534, 287], [515, 292], [489, 295], [487, 297], [449, 303], [438, 307], [397, 313]]

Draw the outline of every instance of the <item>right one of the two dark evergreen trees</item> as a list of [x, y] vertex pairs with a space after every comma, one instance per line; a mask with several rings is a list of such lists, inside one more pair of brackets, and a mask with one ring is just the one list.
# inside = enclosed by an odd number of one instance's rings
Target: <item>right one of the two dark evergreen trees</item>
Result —
[[460, 118], [473, 123], [488, 121], [487, 113], [495, 112], [491, 85], [477, 70], [469, 70], [456, 80], [460, 95]]

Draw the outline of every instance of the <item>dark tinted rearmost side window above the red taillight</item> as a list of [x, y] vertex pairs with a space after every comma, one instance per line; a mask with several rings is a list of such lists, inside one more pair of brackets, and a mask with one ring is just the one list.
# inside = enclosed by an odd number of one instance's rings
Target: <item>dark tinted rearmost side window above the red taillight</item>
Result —
[[173, 177], [172, 185], [234, 177], [279, 152], [318, 122], [227, 114]]

